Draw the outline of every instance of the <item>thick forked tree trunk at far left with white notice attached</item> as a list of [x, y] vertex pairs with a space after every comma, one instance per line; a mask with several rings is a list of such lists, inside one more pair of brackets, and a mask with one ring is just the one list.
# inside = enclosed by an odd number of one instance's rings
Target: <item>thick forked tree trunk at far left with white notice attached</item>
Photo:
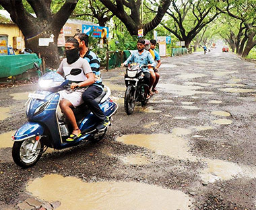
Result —
[[[0, 0], [0, 5], [10, 13], [11, 20], [22, 30], [26, 48], [40, 53], [41, 57], [44, 57], [46, 65], [56, 68], [59, 65], [57, 38], [69, 15], [75, 9], [77, 1]], [[58, 6], [61, 5], [57, 11], [51, 9], [55, 3], [58, 3]], [[35, 15], [32, 15], [32, 12]], [[54, 35], [54, 42], [50, 42], [49, 46], [38, 46], [39, 38], [49, 38], [51, 34]]]

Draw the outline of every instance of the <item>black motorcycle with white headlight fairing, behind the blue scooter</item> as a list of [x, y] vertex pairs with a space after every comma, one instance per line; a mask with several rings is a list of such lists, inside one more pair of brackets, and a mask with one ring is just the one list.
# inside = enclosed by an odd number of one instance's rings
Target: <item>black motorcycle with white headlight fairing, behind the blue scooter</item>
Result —
[[148, 103], [147, 93], [145, 92], [145, 87], [148, 84], [144, 82], [142, 71], [144, 67], [148, 66], [135, 64], [127, 65], [126, 67], [125, 85], [127, 88], [125, 91], [125, 112], [132, 114], [135, 102], [141, 102], [142, 106]]

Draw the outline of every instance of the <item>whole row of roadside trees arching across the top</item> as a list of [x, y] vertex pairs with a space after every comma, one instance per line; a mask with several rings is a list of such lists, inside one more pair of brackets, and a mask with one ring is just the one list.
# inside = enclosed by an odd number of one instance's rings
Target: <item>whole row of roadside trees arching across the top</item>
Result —
[[[255, 0], [0, 0], [25, 36], [27, 48], [40, 52], [46, 65], [57, 67], [57, 38], [68, 18], [90, 20], [127, 36], [152, 36], [152, 30], [172, 34], [185, 46], [196, 49], [216, 35], [226, 40], [233, 51], [246, 57], [256, 45]], [[31, 15], [34, 13], [36, 16]], [[54, 35], [49, 47], [38, 46], [39, 38]]]

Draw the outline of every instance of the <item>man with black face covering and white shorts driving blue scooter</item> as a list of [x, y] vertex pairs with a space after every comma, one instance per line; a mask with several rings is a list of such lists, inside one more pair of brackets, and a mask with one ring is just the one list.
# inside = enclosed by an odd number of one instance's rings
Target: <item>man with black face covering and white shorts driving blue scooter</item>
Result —
[[[63, 75], [64, 77], [67, 75], [67, 79], [76, 81], [71, 83], [71, 90], [61, 90], [59, 92], [61, 110], [65, 116], [67, 116], [73, 128], [71, 135], [69, 135], [66, 141], [75, 141], [82, 135], [71, 108], [75, 108], [84, 102], [82, 100], [82, 94], [85, 91], [83, 87], [94, 83], [94, 74], [92, 73], [92, 69], [88, 61], [79, 57], [78, 47], [79, 43], [75, 38], [67, 39], [65, 43], [65, 54], [67, 58], [63, 59], [61, 65], [59, 65], [59, 69], [57, 70], [57, 73], [60, 75]], [[82, 72], [79, 73], [79, 75], [68, 75], [71, 69], [82, 69]]]

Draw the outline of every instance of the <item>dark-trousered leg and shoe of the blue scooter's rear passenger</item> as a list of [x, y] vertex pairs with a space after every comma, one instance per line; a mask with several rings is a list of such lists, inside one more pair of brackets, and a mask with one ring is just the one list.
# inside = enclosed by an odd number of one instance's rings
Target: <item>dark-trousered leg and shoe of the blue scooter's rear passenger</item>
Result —
[[[100, 109], [98, 103], [94, 100], [102, 94], [102, 88], [97, 87], [96, 85], [90, 86], [83, 94], [82, 98], [84, 102], [88, 105], [92, 113], [98, 118], [99, 125], [105, 125], [105, 121], [108, 122], [104, 112]], [[99, 130], [104, 129], [104, 126], [97, 127]]]

